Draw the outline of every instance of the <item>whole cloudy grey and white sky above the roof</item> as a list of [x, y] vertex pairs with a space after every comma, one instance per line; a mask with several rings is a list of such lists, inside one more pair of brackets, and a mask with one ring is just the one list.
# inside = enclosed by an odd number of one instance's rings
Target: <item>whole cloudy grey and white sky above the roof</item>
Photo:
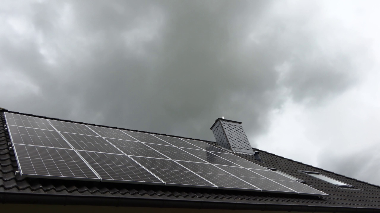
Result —
[[252, 147], [380, 185], [378, 1], [3, 1], [0, 107]]

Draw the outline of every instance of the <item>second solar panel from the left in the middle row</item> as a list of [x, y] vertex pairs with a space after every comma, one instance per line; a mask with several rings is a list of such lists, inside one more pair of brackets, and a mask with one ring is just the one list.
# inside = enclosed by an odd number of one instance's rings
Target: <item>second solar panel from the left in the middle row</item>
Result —
[[66, 132], [61, 134], [77, 150], [122, 154], [120, 150], [101, 137]]

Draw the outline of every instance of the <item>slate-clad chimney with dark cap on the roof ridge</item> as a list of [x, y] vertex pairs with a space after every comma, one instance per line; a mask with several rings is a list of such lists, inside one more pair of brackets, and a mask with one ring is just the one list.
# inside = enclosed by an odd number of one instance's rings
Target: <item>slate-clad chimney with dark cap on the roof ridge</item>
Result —
[[241, 122], [218, 118], [210, 129], [214, 133], [215, 140], [219, 146], [235, 152], [253, 154], [251, 144], [245, 135]]

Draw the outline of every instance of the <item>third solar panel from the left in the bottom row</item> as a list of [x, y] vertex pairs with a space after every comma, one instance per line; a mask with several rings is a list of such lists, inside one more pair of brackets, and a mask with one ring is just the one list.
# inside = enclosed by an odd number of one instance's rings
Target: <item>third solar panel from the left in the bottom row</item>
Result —
[[145, 168], [149, 169], [149, 171], [153, 172], [153, 174], [157, 175], [157, 177], [163, 180], [166, 185], [215, 187], [212, 183], [180, 166], [173, 160], [144, 157], [132, 158]]

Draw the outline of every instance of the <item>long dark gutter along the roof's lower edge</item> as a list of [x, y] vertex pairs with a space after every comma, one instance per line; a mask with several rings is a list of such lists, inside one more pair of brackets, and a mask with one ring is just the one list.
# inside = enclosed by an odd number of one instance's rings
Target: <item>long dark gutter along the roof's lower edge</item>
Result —
[[114, 207], [154, 207], [154, 208], [192, 208], [225, 210], [261, 211], [303, 211], [303, 212], [341, 212], [341, 213], [380, 213], [380, 208], [326, 207], [293, 204], [249, 204], [236, 201], [172, 200], [137, 197], [106, 197], [85, 195], [37, 194], [20, 192], [0, 192], [2, 204], [39, 204], [39, 205], [92, 205]]

